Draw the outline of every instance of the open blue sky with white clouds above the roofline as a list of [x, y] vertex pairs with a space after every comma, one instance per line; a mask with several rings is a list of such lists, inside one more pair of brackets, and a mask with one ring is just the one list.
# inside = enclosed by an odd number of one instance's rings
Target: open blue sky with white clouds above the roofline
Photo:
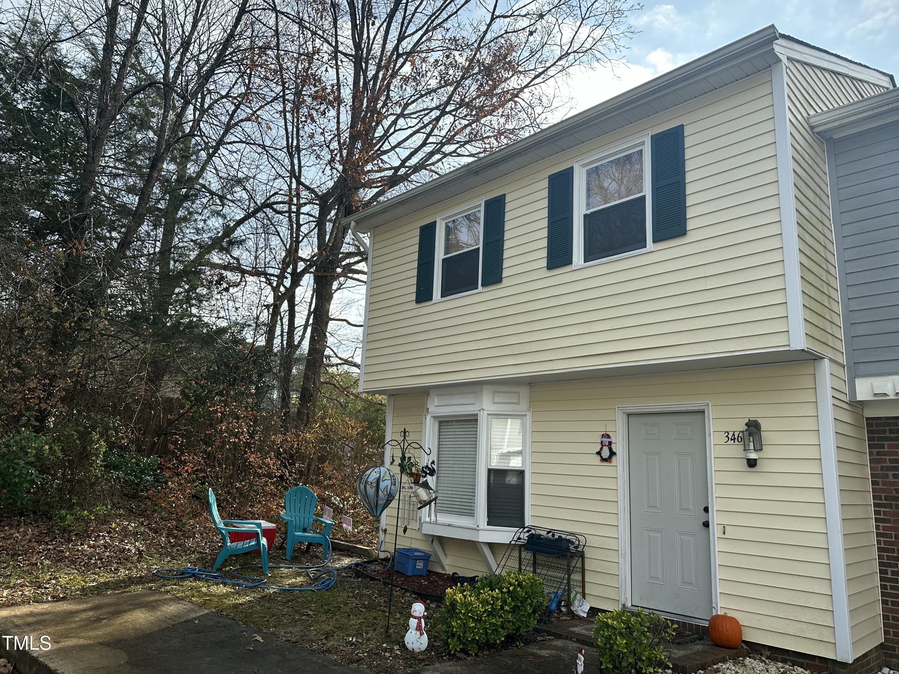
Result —
[[[645, 1], [628, 66], [595, 68], [570, 83], [583, 110], [773, 23], [781, 32], [899, 75], [899, 0]], [[588, 85], [589, 82], [589, 85]]]

